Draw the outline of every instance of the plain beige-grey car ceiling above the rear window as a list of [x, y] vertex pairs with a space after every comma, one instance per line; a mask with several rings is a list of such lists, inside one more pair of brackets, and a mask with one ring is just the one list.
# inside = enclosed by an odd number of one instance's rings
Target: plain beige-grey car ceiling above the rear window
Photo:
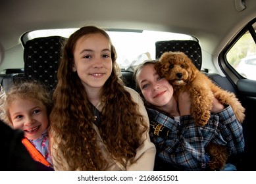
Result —
[[[236, 0], [2, 0], [0, 42], [4, 50], [20, 44], [30, 30], [101, 28], [177, 32], [197, 37], [202, 48], [214, 54], [242, 26], [256, 17], [256, 1], [245, 0], [236, 11]], [[234, 26], [235, 25], [235, 26]]]

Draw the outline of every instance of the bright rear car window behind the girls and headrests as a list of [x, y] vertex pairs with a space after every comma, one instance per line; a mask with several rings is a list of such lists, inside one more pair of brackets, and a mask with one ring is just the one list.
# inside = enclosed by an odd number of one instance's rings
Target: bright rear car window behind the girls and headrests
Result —
[[[22, 43], [36, 37], [61, 35], [69, 37], [77, 29], [35, 30], [22, 35]], [[147, 59], [155, 59], [155, 42], [163, 40], [197, 40], [186, 34], [153, 32], [147, 30], [107, 30], [116, 48], [117, 60], [122, 70], [133, 70], [134, 66]]]

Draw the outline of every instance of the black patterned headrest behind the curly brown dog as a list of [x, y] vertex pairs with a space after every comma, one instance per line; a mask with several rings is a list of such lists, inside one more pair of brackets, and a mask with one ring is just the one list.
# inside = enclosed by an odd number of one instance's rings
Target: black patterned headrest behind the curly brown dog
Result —
[[180, 51], [188, 55], [191, 58], [193, 64], [201, 70], [202, 53], [201, 47], [197, 41], [194, 40], [169, 40], [169, 41], [157, 41], [155, 43], [155, 58], [158, 59], [161, 55], [168, 51]]

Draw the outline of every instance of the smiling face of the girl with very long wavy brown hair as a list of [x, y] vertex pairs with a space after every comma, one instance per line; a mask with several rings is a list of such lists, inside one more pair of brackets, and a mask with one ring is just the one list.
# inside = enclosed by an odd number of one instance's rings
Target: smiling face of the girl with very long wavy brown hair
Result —
[[84, 35], [74, 49], [73, 71], [78, 73], [86, 91], [101, 88], [113, 68], [111, 43], [103, 34]]

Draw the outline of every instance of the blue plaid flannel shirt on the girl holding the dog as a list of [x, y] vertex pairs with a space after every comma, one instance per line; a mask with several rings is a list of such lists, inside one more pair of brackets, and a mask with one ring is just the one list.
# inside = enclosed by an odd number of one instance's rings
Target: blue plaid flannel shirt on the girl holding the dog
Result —
[[180, 123], [157, 110], [147, 108], [151, 141], [157, 157], [178, 170], [206, 170], [205, 147], [210, 141], [227, 145], [230, 155], [244, 150], [243, 130], [231, 106], [211, 114], [206, 126], [195, 126], [192, 116], [180, 116]]

